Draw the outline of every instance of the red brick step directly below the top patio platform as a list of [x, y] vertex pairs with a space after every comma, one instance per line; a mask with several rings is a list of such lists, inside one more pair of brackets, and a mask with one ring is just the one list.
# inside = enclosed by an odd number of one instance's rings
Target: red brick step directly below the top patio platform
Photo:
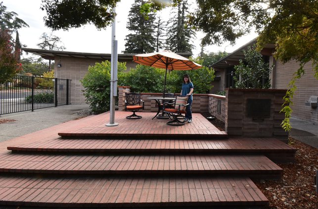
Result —
[[12, 151], [42, 152], [292, 152], [296, 149], [274, 138], [208, 139], [51, 139], [8, 146]]

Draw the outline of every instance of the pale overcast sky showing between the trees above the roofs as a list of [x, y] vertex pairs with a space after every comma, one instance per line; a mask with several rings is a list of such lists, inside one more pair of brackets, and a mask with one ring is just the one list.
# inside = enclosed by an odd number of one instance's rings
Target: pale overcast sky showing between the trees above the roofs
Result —
[[[39, 48], [37, 43], [41, 42], [40, 37], [43, 33], [49, 34], [51, 30], [44, 25], [43, 17], [45, 11], [40, 9], [41, 0], [0, 0], [3, 1], [6, 11], [14, 11], [18, 17], [24, 20], [30, 27], [19, 30], [20, 42], [26, 44], [28, 48]], [[121, 0], [116, 7], [116, 40], [118, 40], [118, 53], [125, 50], [125, 37], [130, 33], [126, 29], [128, 14], [134, 0]], [[193, 6], [191, 6], [193, 8]], [[169, 14], [167, 11], [162, 13]], [[169, 16], [169, 15], [164, 15]], [[86, 25], [69, 31], [54, 31], [53, 35], [61, 38], [61, 41], [66, 47], [65, 51], [74, 52], [90, 52], [90, 53], [111, 53], [111, 26], [106, 30], [98, 31], [93, 25]], [[200, 52], [200, 39], [202, 33], [196, 34], [196, 39], [193, 44], [196, 48], [193, 50], [193, 55], [197, 56]], [[205, 47], [206, 52], [227, 51], [232, 52], [238, 47], [251, 41], [256, 37], [256, 34], [249, 34], [237, 40], [234, 46], [229, 43], [224, 43], [222, 46], [210, 45]]]

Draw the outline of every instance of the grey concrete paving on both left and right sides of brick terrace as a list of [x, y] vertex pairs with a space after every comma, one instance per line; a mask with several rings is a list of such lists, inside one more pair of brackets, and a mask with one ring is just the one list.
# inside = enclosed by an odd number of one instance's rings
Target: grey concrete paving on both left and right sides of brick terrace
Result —
[[[0, 119], [12, 119], [14, 122], [0, 124], [0, 141], [32, 133], [53, 125], [83, 117], [89, 105], [74, 104], [40, 110], [1, 115]], [[289, 135], [301, 142], [318, 148], [318, 125], [297, 119], [291, 119], [293, 127]]]

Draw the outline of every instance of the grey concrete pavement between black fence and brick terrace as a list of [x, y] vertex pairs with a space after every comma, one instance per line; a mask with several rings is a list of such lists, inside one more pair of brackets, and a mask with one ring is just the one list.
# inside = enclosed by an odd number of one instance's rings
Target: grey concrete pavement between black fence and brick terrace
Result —
[[15, 120], [0, 124], [0, 141], [22, 136], [53, 125], [83, 117], [88, 112], [87, 104], [71, 104], [39, 110], [1, 115], [0, 120]]

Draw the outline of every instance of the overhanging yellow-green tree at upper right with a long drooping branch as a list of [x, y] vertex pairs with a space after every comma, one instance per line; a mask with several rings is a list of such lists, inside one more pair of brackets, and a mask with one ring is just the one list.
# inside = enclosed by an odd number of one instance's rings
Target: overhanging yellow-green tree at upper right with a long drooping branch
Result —
[[295, 60], [299, 69], [289, 84], [284, 97], [282, 127], [290, 130], [292, 98], [295, 82], [305, 73], [303, 67], [313, 61], [318, 79], [318, 3], [316, 0], [197, 0], [190, 24], [206, 36], [203, 45], [235, 39], [255, 28], [260, 34], [258, 50], [266, 43], [275, 43], [274, 57], [282, 62]]

